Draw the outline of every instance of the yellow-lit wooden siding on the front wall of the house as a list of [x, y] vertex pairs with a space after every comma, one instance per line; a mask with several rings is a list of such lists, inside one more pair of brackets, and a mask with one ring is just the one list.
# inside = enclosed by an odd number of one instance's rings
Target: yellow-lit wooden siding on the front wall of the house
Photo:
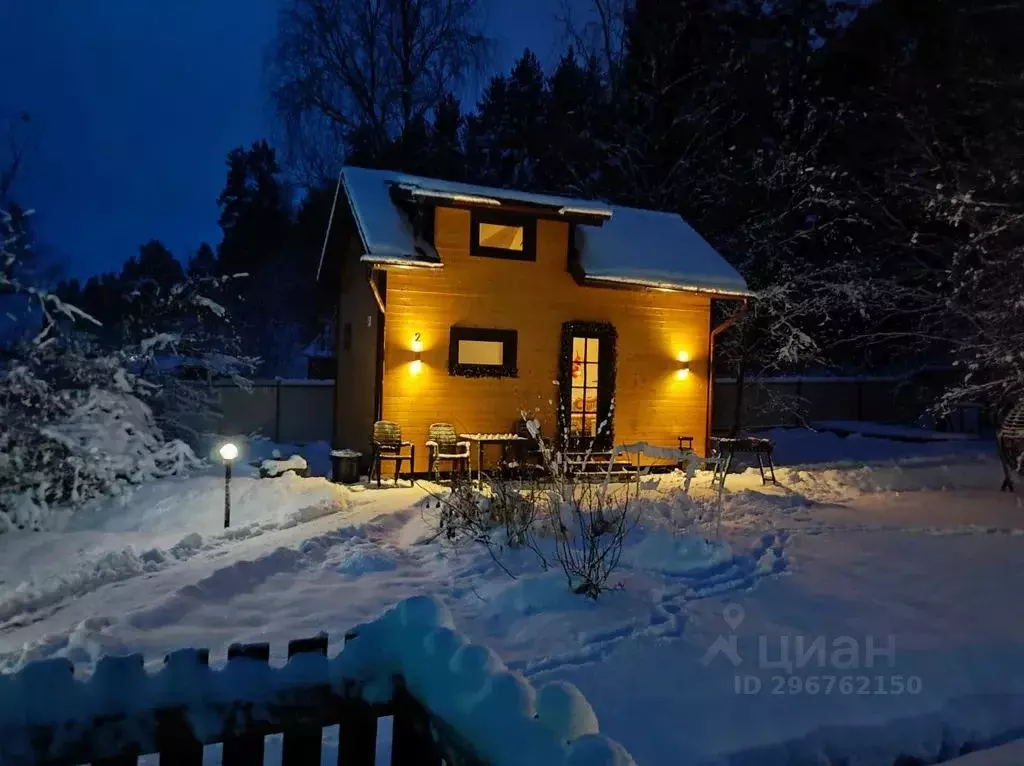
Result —
[[[521, 411], [555, 430], [561, 326], [609, 322], [617, 333], [614, 438], [675, 446], [693, 436], [706, 454], [710, 301], [683, 293], [581, 287], [566, 270], [567, 224], [539, 221], [537, 261], [469, 255], [469, 213], [439, 208], [441, 269], [391, 269], [387, 279], [383, 416], [417, 444], [426, 470], [427, 427], [507, 432]], [[447, 372], [455, 326], [518, 331], [517, 378], [463, 378]], [[420, 334], [421, 363], [413, 339]], [[680, 378], [679, 355], [690, 359]]]

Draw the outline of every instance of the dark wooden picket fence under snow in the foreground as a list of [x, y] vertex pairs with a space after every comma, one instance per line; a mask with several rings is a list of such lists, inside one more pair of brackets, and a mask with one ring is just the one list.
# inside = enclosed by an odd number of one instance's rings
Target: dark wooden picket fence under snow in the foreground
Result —
[[[346, 641], [355, 634], [346, 634]], [[189, 719], [189, 707], [154, 709], [128, 714], [98, 716], [88, 720], [65, 721], [49, 727], [23, 731], [0, 731], [0, 763], [5, 766], [128, 766], [138, 758], [159, 753], [161, 766], [200, 766], [204, 747], [223, 743], [224, 766], [259, 766], [263, 763], [264, 737], [283, 734], [284, 766], [318, 766], [322, 760], [324, 727], [339, 726], [339, 766], [373, 766], [377, 746], [377, 721], [392, 716], [392, 766], [485, 766], [465, 744], [463, 738], [443, 722], [435, 719], [408, 691], [400, 678], [393, 679], [394, 693], [386, 704], [370, 704], [359, 689], [346, 682], [339, 690], [327, 677], [328, 636], [299, 639], [288, 644], [288, 656], [313, 653], [325, 657], [321, 678], [290, 685], [274, 694], [271, 701], [254, 705], [244, 690], [238, 698], [198, 700], [204, 709], [204, 733], [197, 735]], [[209, 669], [207, 649], [183, 649], [164, 658], [164, 672], [180, 673], [182, 678], [196, 673], [216, 673]], [[232, 663], [260, 663], [268, 666], [270, 647], [266, 643], [232, 644], [227, 650], [227, 666]], [[66, 661], [47, 661], [66, 662]], [[142, 668], [142, 656], [106, 657], [104, 671], [116, 678], [152, 680]], [[68, 673], [74, 668], [67, 662]], [[201, 666], [197, 668], [196, 666]], [[98, 669], [97, 669], [98, 670]], [[270, 669], [281, 673], [285, 669]], [[141, 674], [141, 676], [139, 675]], [[76, 682], [78, 683], [78, 682]], [[59, 693], [55, 690], [54, 693]], [[193, 699], [190, 703], [195, 704]], [[211, 726], [212, 720], [217, 722]]]

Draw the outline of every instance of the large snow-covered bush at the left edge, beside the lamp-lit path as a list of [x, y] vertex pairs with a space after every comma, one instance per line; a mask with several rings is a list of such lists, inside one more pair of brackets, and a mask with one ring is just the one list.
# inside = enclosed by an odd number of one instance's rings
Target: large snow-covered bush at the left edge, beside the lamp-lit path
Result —
[[7, 314], [13, 332], [0, 348], [0, 531], [47, 528], [53, 509], [199, 463], [157, 426], [146, 402], [160, 389], [128, 354], [76, 329], [91, 317], [17, 280], [9, 223], [0, 215], [0, 293], [25, 310]]

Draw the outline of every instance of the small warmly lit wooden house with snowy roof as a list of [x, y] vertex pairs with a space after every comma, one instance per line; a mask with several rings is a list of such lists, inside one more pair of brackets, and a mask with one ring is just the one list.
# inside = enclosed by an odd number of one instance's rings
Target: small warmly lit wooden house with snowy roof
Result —
[[707, 454], [712, 301], [749, 293], [681, 217], [354, 167], [342, 189], [335, 449], [369, 454], [380, 419], [422, 445], [526, 413], [577, 443]]

